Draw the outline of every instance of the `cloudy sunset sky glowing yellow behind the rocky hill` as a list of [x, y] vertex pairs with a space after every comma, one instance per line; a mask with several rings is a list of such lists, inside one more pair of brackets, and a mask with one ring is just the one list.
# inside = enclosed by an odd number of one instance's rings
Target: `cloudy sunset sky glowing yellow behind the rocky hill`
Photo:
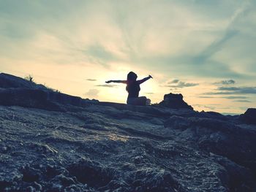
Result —
[[0, 72], [82, 98], [125, 103], [130, 71], [152, 103], [256, 107], [256, 1], [0, 0]]

